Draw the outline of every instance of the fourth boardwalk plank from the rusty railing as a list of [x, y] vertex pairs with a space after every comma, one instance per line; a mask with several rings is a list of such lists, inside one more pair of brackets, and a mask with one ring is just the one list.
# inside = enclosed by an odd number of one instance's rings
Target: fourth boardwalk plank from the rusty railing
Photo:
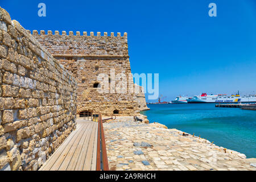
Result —
[[89, 123], [89, 125], [86, 127], [86, 130], [85, 130], [79, 144], [77, 145], [76, 151], [72, 156], [71, 162], [69, 163], [68, 168], [66, 169], [67, 171], [75, 170], [77, 161], [79, 160], [79, 156], [81, 154], [82, 145], [84, 144], [85, 139], [89, 133], [89, 130], [91, 130], [91, 127], [92, 127], [92, 123]]

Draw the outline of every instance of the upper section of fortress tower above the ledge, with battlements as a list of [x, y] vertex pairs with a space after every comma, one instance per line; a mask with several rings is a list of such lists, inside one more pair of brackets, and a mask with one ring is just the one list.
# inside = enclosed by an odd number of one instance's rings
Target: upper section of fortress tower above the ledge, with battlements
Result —
[[[30, 32], [30, 31], [28, 31]], [[128, 55], [127, 33], [80, 31], [32, 31], [32, 35], [52, 55], [120, 57]]]

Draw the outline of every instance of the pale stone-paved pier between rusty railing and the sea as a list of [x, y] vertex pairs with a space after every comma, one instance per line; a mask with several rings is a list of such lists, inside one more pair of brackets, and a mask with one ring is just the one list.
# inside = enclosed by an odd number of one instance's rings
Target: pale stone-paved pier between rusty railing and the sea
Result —
[[104, 123], [110, 170], [255, 171], [256, 159], [159, 123], [117, 117]]

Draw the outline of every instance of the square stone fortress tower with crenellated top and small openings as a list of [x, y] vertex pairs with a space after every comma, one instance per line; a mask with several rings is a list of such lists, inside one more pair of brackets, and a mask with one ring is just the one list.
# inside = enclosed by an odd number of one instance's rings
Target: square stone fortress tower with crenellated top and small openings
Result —
[[[34, 30], [35, 39], [42, 44], [53, 57], [58, 59], [68, 71], [72, 72], [78, 83], [77, 88], [77, 114], [81, 111], [100, 111], [102, 114], [133, 115], [138, 113], [139, 104], [135, 93], [99, 93], [94, 84], [97, 84], [97, 76], [105, 73], [109, 78], [109, 90], [114, 88], [113, 82], [127, 79], [127, 88], [134, 89], [133, 77], [128, 54], [127, 33], [121, 36], [112, 32], [108, 36], [104, 32], [101, 36], [97, 32], [87, 35], [87, 32], [65, 31], [60, 35], [59, 31]], [[123, 73], [125, 78], [112, 77], [110, 71], [114, 69], [115, 75]], [[145, 101], [146, 102], [146, 101]]]

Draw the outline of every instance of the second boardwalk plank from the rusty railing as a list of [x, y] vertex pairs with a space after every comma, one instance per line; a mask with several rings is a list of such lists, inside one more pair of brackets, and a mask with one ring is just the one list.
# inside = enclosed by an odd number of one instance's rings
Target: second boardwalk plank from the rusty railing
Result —
[[96, 125], [93, 125], [92, 135], [90, 136], [90, 141], [88, 145], [88, 150], [84, 162], [83, 171], [89, 171], [92, 166], [92, 152], [93, 152], [93, 143], [94, 143], [94, 135], [96, 132]]

